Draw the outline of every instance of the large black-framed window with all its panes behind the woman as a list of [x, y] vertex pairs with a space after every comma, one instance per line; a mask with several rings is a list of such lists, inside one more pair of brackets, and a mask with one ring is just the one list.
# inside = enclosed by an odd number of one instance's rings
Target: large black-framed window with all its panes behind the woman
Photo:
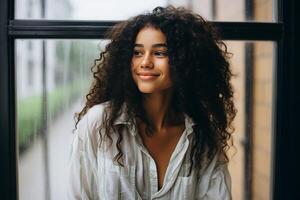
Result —
[[[299, 107], [295, 84], [299, 81], [292, 73], [296, 64], [292, 62], [295, 30], [290, 2], [294, 1], [157, 0], [131, 7], [116, 1], [103, 5], [91, 1], [78, 8], [80, 2], [0, 3], [0, 41], [5, 47], [0, 50], [4, 199], [64, 199], [64, 184], [55, 178], [66, 174], [68, 144], [62, 141], [70, 141], [72, 136], [72, 113], [80, 108], [78, 97], [88, 87], [89, 68], [107, 39], [103, 33], [116, 20], [168, 4], [188, 7], [212, 20], [233, 53], [239, 111], [233, 135], [237, 151], [230, 152], [234, 198], [295, 197], [294, 186], [288, 184], [297, 163], [293, 109]], [[110, 8], [115, 14], [87, 12], [88, 6]], [[118, 12], [120, 8], [128, 10]], [[31, 193], [36, 187], [40, 192]]]

